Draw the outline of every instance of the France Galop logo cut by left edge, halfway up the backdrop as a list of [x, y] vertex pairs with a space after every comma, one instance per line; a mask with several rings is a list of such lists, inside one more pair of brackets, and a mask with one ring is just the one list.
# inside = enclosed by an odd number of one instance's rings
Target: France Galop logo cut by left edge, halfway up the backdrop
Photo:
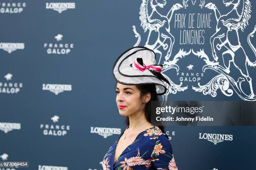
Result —
[[[11, 73], [4, 76], [7, 81], [10, 81], [13, 77]], [[18, 93], [20, 88], [23, 87], [22, 82], [0, 82], [0, 93]]]

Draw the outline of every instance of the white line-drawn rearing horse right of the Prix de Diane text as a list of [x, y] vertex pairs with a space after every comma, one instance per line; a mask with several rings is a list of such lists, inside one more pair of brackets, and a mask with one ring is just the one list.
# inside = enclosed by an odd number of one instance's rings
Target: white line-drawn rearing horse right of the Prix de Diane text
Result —
[[[248, 59], [245, 50], [241, 46], [238, 35], [238, 30], [241, 29], [243, 31], [248, 25], [248, 20], [251, 18], [251, 3], [249, 2], [249, 0], [223, 0], [223, 3], [226, 7], [228, 7], [229, 5], [233, 5], [233, 9], [225, 15], [220, 15], [219, 10], [213, 3], [208, 3], [207, 5], [205, 5], [205, 7], [207, 7], [208, 9], [214, 10], [217, 20], [216, 32], [210, 37], [212, 56], [215, 61], [218, 61], [218, 56], [216, 55], [215, 51], [214, 40], [215, 38], [219, 38], [221, 44], [216, 45], [217, 49], [220, 50], [223, 46], [227, 48], [227, 50], [222, 53], [222, 59], [225, 66], [224, 71], [227, 73], [230, 72], [230, 62], [232, 61], [235, 67], [240, 70], [241, 74], [246, 77], [246, 80], [250, 85], [250, 97], [253, 97], [254, 93], [251, 77], [249, 76], [247, 70], [247, 64], [255, 67], [256, 62], [251, 62]], [[231, 43], [228, 39], [229, 36], [235, 38], [236, 40], [232, 41]], [[251, 42], [248, 41], [248, 43], [250, 44]], [[253, 45], [250, 44], [250, 46]], [[255, 48], [253, 50], [255, 50]], [[227, 60], [230, 56], [231, 59]]]

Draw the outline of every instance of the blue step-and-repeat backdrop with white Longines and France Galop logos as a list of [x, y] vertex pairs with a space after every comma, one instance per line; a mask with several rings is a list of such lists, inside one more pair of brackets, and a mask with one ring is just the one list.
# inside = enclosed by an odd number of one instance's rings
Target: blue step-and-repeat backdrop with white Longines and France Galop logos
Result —
[[236, 108], [240, 123], [166, 126], [178, 169], [255, 170], [255, 6], [0, 0], [0, 161], [28, 161], [31, 170], [112, 169], [103, 157], [126, 128], [112, 68], [125, 50], [145, 46], [170, 81], [160, 100], [237, 103], [222, 112]]

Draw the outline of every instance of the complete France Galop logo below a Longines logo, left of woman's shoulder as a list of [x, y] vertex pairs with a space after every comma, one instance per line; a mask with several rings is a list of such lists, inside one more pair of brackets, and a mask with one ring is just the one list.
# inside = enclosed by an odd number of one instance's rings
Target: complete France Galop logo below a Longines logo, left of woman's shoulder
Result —
[[51, 120], [54, 122], [54, 125], [49, 124], [41, 124], [40, 128], [44, 129], [44, 135], [51, 135], [51, 136], [64, 136], [67, 134], [67, 130], [70, 130], [69, 125], [56, 125], [56, 122], [59, 122], [59, 116], [54, 115], [51, 117]]

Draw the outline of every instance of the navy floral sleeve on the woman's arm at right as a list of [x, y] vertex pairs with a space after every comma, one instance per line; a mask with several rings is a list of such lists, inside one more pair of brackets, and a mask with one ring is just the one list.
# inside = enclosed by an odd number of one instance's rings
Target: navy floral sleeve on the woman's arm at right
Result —
[[164, 134], [155, 140], [151, 164], [157, 170], [178, 170], [172, 153], [172, 145]]

